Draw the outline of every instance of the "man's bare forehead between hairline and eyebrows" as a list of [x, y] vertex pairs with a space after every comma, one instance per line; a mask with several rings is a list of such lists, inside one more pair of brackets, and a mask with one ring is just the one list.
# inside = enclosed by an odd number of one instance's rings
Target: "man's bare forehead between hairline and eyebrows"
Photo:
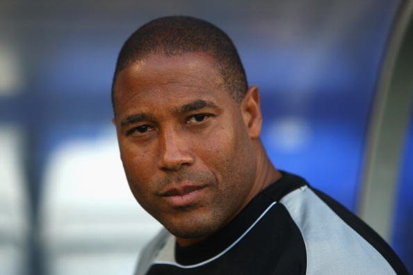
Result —
[[115, 114], [136, 106], [164, 105], [227, 96], [215, 60], [205, 53], [181, 56], [150, 55], [132, 63], [117, 76], [114, 86]]

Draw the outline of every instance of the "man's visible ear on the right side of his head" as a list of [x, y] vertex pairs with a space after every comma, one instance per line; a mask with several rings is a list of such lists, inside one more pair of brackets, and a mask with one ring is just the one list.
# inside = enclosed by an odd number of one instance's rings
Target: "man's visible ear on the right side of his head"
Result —
[[241, 113], [250, 138], [259, 138], [262, 126], [262, 115], [257, 86], [248, 88], [243, 101], [241, 101]]

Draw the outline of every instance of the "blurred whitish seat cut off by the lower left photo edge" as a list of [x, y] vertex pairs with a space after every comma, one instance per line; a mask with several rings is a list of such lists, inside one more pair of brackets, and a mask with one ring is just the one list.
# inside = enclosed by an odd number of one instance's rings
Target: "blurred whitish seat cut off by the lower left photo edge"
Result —
[[0, 126], [0, 274], [26, 274], [29, 213], [22, 165], [22, 135]]

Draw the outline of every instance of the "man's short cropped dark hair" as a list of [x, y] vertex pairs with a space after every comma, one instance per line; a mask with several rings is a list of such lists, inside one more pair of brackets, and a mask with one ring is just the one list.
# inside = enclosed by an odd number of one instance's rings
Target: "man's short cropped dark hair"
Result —
[[213, 57], [229, 94], [241, 102], [248, 89], [245, 70], [234, 43], [220, 28], [202, 19], [168, 16], [141, 26], [124, 42], [116, 63], [112, 83], [112, 105], [118, 74], [150, 54], [180, 56], [202, 52]]

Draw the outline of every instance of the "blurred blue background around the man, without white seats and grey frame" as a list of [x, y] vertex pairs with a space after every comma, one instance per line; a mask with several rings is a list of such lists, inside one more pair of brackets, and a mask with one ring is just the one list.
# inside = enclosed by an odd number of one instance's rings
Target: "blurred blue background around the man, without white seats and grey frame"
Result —
[[[5, 3], [0, 42], [17, 52], [24, 80], [15, 93], [0, 94], [0, 124], [24, 128], [33, 224], [51, 154], [70, 140], [97, 139], [111, 123], [122, 42], [171, 13], [208, 19], [233, 38], [249, 83], [261, 91], [261, 138], [275, 166], [357, 210], [375, 84], [399, 1]], [[413, 272], [412, 163], [413, 126], [391, 240]], [[32, 249], [40, 248], [33, 242]]]

